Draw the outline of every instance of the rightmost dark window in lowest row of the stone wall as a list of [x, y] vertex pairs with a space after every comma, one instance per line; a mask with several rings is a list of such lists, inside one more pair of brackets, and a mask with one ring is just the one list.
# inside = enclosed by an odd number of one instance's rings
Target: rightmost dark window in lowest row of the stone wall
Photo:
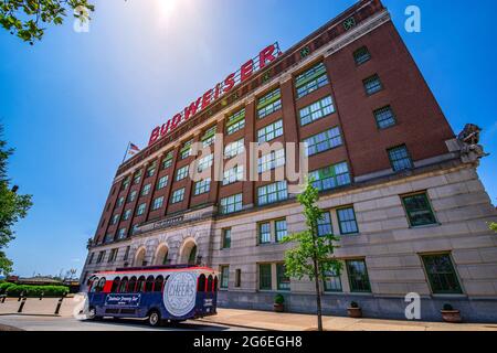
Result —
[[435, 295], [461, 295], [463, 290], [448, 254], [422, 256], [430, 286]]

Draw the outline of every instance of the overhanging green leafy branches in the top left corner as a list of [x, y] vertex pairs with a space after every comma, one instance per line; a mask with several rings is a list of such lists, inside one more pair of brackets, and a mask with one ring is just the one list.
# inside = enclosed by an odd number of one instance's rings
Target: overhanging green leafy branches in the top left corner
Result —
[[62, 24], [67, 11], [84, 22], [94, 10], [88, 0], [0, 0], [0, 24], [33, 44], [43, 38], [46, 25]]

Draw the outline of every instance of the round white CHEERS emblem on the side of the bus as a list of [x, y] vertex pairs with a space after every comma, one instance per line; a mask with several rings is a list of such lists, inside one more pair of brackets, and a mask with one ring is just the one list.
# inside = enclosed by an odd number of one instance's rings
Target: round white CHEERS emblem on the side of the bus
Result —
[[197, 276], [191, 272], [172, 274], [163, 289], [163, 304], [175, 317], [184, 317], [195, 307]]

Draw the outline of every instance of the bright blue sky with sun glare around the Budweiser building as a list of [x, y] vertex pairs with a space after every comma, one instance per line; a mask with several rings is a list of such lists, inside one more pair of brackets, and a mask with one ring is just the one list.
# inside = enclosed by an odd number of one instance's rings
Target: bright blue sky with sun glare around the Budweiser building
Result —
[[[165, 3], [167, 2], [167, 3]], [[497, 2], [384, 0], [456, 132], [484, 128], [479, 174], [497, 203]], [[10, 176], [34, 206], [7, 254], [22, 276], [81, 269], [128, 141], [150, 130], [265, 45], [282, 50], [352, 0], [95, 0], [88, 33], [72, 19], [34, 46], [0, 31], [0, 121]], [[422, 32], [404, 31], [419, 6]]]

